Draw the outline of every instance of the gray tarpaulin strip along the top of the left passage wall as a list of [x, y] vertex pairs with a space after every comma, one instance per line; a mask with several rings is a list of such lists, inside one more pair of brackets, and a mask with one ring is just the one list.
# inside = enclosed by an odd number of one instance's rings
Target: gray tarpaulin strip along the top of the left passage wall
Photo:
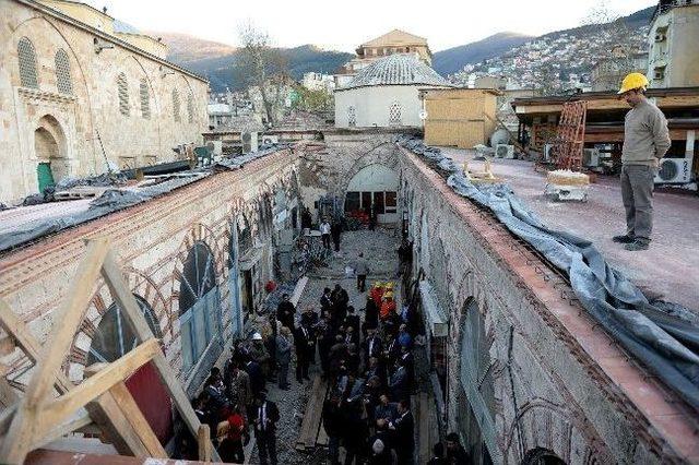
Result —
[[[214, 169], [240, 169], [244, 167], [244, 165], [257, 158], [261, 158], [271, 153], [277, 152], [283, 147], [285, 147], [285, 145], [265, 146], [259, 152], [252, 152], [250, 154], [232, 159], [224, 159], [216, 163]], [[104, 194], [90, 203], [90, 208], [78, 214], [64, 215], [48, 219], [36, 219], [17, 226], [16, 228], [0, 233], [0, 252], [22, 246], [26, 242], [31, 242], [40, 237], [58, 233], [62, 229], [80, 225], [81, 223], [90, 222], [100, 216], [108, 215], [112, 212], [117, 212], [119, 210], [127, 208], [141, 202], [145, 202], [164, 193], [170, 192], [175, 189], [199, 181], [200, 179], [210, 176], [212, 172], [212, 169], [200, 168], [198, 170], [191, 171], [192, 176], [176, 177], [151, 187], [138, 188], [133, 190], [115, 189], [105, 191]], [[85, 182], [71, 179], [70, 182], [66, 182], [62, 187], [70, 188], [82, 184], [85, 184]]]

